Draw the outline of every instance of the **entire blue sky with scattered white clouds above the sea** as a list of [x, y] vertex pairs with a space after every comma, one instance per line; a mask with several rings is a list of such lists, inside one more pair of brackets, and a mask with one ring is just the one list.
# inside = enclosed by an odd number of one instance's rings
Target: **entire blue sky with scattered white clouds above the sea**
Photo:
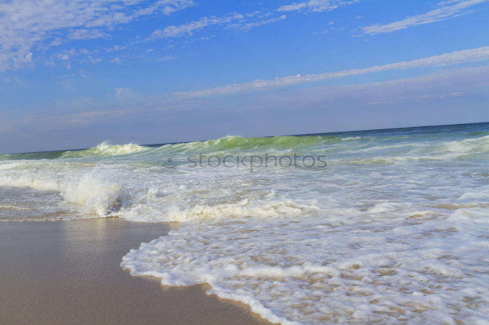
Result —
[[0, 153], [489, 122], [489, 0], [0, 0]]

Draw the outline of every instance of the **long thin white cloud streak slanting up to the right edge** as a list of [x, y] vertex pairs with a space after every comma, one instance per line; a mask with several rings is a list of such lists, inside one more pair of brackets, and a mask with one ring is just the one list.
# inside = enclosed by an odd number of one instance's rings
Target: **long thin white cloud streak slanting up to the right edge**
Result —
[[242, 92], [250, 92], [255, 90], [266, 90], [270, 88], [284, 87], [299, 83], [321, 81], [334, 78], [342, 78], [356, 75], [363, 75], [378, 71], [387, 70], [405, 70], [413, 69], [419, 67], [428, 66], [446, 66], [465, 62], [474, 61], [485, 61], [489, 60], [489, 46], [479, 47], [475, 49], [455, 51], [451, 53], [445, 53], [441, 55], [435, 55], [432, 57], [413, 60], [413, 61], [402, 61], [397, 63], [390, 63], [384, 65], [377, 65], [369, 68], [363, 69], [352, 69], [343, 70], [337, 72], [326, 72], [321, 74], [307, 75], [307, 76], [289, 76], [284, 78], [276, 78], [272, 80], [255, 80], [245, 83], [235, 83], [226, 86], [204, 89], [200, 91], [191, 92], [178, 92], [175, 93], [177, 97], [180, 98], [195, 98], [195, 97], [206, 97], [206, 96], [217, 96], [217, 95], [229, 95]]

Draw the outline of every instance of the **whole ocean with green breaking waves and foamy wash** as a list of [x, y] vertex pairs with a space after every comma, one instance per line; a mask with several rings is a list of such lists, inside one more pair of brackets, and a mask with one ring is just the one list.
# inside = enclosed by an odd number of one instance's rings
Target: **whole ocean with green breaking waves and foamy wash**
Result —
[[107, 217], [272, 323], [489, 324], [489, 123], [0, 155], [0, 221]]

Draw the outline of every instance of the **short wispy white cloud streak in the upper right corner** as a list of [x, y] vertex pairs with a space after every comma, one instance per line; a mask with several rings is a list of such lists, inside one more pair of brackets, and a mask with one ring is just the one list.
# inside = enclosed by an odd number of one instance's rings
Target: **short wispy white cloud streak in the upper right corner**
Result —
[[[454, 17], [458, 17], [471, 11], [467, 10], [467, 8], [482, 3], [487, 2], [489, 0], [449, 0], [439, 2], [438, 5], [441, 8], [437, 8], [431, 10], [425, 14], [406, 17], [403, 20], [391, 22], [385, 25], [373, 24], [370, 26], [362, 27], [362, 30], [366, 34], [378, 34], [378, 33], [389, 33], [396, 30], [418, 26], [422, 24], [427, 24], [435, 21], [450, 19]], [[458, 2], [456, 4], [452, 4], [454, 2]], [[451, 5], [449, 5], [451, 4]]]

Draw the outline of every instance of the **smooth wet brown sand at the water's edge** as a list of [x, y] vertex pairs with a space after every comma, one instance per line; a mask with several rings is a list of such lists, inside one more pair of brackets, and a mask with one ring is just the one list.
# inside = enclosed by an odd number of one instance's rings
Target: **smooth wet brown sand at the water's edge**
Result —
[[248, 306], [119, 266], [170, 224], [0, 222], [0, 324], [270, 324]]

